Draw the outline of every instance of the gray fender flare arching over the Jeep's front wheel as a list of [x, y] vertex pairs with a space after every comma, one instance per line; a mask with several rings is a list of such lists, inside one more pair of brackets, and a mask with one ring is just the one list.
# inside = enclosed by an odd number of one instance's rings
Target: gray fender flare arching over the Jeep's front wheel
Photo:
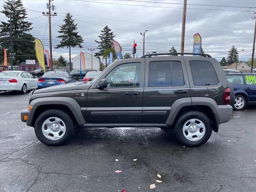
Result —
[[36, 98], [30, 102], [30, 106], [32, 106], [32, 110], [30, 111], [28, 118], [29, 119], [32, 118], [33, 111], [35, 112], [36, 107], [42, 106], [42, 105], [65, 105], [71, 110], [71, 112], [73, 113], [79, 125], [84, 125], [86, 123], [84, 120], [84, 116], [82, 115], [82, 112], [81, 112], [81, 106], [78, 104], [78, 102], [76, 102], [76, 100], [70, 97]]

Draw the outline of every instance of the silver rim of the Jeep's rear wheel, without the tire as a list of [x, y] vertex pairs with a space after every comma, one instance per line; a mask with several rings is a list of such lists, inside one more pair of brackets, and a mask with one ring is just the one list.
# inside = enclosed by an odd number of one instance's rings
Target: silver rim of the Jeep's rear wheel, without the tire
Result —
[[204, 136], [205, 130], [204, 122], [193, 118], [184, 123], [182, 132], [186, 139], [190, 141], [198, 141]]

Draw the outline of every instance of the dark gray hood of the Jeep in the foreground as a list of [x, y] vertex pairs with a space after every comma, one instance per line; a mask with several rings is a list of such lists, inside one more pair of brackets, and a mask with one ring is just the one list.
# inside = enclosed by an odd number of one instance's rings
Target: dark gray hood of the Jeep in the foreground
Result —
[[68, 83], [64, 85], [56, 85], [56, 86], [38, 89], [38, 90], [35, 90], [33, 94], [59, 92], [59, 91], [72, 91], [72, 90], [87, 90], [90, 88], [90, 86], [91, 86], [90, 83], [86, 84], [84, 82]]

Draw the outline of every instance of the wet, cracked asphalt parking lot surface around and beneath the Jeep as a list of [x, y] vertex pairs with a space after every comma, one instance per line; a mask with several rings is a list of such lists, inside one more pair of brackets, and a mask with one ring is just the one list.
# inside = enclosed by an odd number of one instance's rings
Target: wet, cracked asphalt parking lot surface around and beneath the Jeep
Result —
[[160, 128], [79, 129], [50, 147], [20, 121], [28, 99], [0, 93], [1, 192], [255, 192], [256, 106], [234, 111], [198, 148]]

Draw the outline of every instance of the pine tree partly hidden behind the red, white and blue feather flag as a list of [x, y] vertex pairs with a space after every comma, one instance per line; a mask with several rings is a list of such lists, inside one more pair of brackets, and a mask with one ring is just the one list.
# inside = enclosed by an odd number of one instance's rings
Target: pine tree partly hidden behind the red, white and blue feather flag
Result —
[[[104, 51], [107, 49], [107, 48], [112, 48], [113, 45], [112, 45], [112, 42], [114, 40], [114, 34], [113, 32], [111, 32], [111, 29], [106, 25], [103, 30], [101, 30], [101, 34], [98, 36], [100, 38], [100, 41], [96, 41], [94, 40], [96, 43], [99, 44], [98, 48], [99, 49], [99, 52], [95, 53], [94, 56], [98, 57], [98, 56], [103, 56], [104, 54]], [[107, 65], [107, 57], [104, 57], [103, 58], [106, 59], [106, 65]]]

